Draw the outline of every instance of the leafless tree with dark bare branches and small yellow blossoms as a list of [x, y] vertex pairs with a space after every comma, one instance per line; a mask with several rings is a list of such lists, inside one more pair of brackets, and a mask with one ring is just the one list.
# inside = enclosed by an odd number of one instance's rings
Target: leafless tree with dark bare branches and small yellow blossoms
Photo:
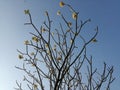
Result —
[[[103, 71], [99, 72], [93, 68], [92, 56], [87, 55], [87, 46], [96, 43], [98, 27], [95, 34], [86, 40], [81, 31], [91, 20], [79, 23], [79, 12], [64, 2], [59, 3], [60, 7], [68, 7], [72, 14], [73, 22], [69, 22], [65, 16], [58, 11], [57, 15], [63, 20], [60, 28], [52, 28], [52, 20], [49, 13], [45, 15], [47, 21], [41, 25], [40, 30], [35, 26], [29, 10], [25, 14], [35, 30], [31, 40], [25, 41], [25, 52], [19, 52], [19, 59], [23, 60], [23, 67], [17, 69], [25, 72], [24, 81], [29, 90], [110, 90], [114, 81], [113, 66], [103, 65]], [[74, 25], [73, 25], [74, 23]], [[63, 24], [65, 24], [63, 26]], [[81, 42], [81, 44], [78, 43]], [[83, 71], [84, 70], [84, 71]], [[21, 83], [16, 81], [18, 88], [24, 90]], [[47, 84], [47, 85], [46, 85]]]

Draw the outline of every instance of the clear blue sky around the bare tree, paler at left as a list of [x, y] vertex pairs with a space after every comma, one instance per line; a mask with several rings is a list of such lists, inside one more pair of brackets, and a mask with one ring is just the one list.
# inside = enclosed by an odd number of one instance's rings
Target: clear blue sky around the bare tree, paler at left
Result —
[[[116, 80], [111, 90], [120, 88], [120, 0], [63, 0], [80, 12], [80, 18], [92, 19], [90, 25], [99, 27], [98, 43], [89, 47], [95, 65], [103, 61], [114, 65]], [[30, 9], [37, 25], [44, 21], [44, 11], [55, 17], [60, 0], [0, 0], [0, 89], [13, 90], [15, 80], [22, 73], [14, 68], [21, 65], [16, 49], [23, 49], [24, 40], [29, 38], [31, 27], [24, 26], [28, 20], [24, 9]], [[64, 10], [63, 10], [64, 12]], [[39, 24], [38, 24], [39, 23]], [[89, 26], [88, 25], [88, 28]]]

